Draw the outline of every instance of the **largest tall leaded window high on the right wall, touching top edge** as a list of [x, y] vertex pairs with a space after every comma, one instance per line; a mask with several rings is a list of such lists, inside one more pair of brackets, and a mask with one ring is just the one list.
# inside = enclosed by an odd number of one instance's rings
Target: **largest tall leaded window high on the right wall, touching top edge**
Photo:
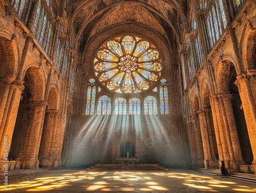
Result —
[[211, 47], [220, 38], [227, 26], [222, 0], [214, 1], [207, 14], [207, 27]]

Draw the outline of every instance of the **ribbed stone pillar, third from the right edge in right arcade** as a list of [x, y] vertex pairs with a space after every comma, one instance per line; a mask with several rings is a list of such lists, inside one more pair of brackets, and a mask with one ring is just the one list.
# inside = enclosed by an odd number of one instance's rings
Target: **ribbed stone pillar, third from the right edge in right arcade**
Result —
[[198, 111], [202, 142], [204, 148], [204, 168], [217, 168], [218, 161], [215, 160], [214, 141], [211, 132], [211, 122], [209, 117], [210, 109], [201, 109]]

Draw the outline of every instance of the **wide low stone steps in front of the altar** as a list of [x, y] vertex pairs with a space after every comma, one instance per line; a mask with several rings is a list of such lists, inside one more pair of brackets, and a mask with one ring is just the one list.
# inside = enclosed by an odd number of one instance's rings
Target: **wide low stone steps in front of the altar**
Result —
[[88, 168], [88, 170], [162, 170], [168, 171], [159, 164], [103, 164], [99, 163]]

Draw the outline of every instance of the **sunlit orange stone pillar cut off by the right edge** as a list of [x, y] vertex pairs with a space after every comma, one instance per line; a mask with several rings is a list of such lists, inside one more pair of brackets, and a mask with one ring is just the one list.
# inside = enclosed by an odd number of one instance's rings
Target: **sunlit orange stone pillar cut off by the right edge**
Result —
[[242, 74], [237, 77], [237, 80], [234, 83], [236, 83], [236, 85], [238, 86], [239, 94], [243, 104], [242, 108], [244, 111], [253, 154], [252, 164], [254, 171], [256, 171], [256, 96], [255, 92], [253, 93], [253, 90], [255, 90], [254, 88], [256, 85], [256, 79], [249, 73]]

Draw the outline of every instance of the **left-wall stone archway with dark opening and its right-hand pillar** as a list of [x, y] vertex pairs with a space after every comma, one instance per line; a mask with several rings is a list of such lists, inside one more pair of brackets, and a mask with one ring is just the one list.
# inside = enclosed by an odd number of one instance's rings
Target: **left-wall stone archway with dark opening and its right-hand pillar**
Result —
[[10, 159], [20, 160], [22, 168], [37, 168], [41, 123], [47, 103], [43, 101], [44, 81], [36, 66], [27, 69], [24, 87], [14, 126]]

